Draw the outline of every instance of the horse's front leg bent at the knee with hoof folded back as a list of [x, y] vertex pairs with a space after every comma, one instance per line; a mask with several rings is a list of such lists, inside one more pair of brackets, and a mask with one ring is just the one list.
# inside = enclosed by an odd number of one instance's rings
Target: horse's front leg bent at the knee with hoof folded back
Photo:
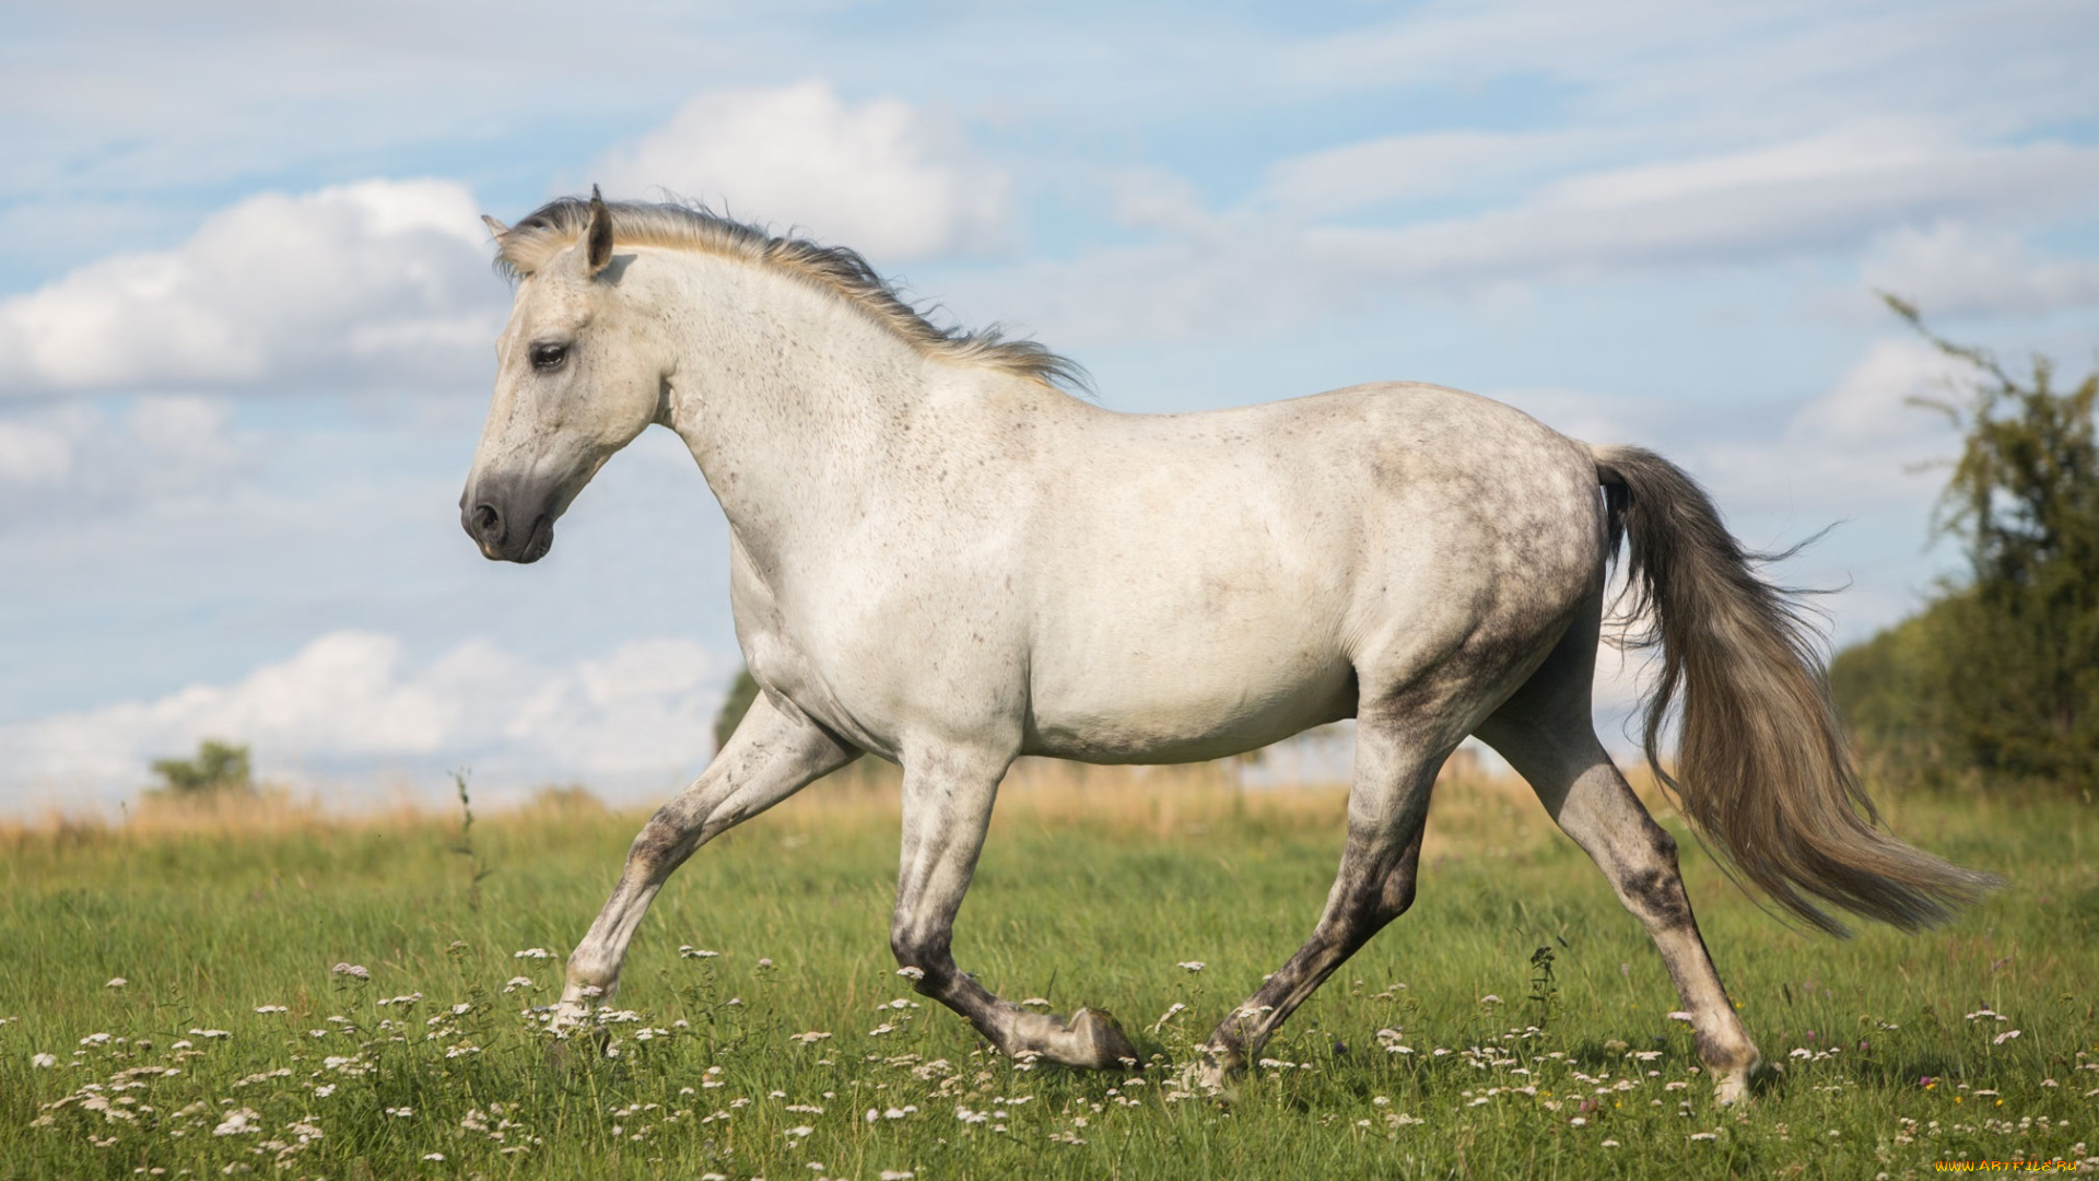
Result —
[[1012, 759], [1012, 752], [955, 748], [907, 752], [903, 868], [890, 950], [921, 994], [968, 1017], [1008, 1057], [1045, 1057], [1094, 1070], [1136, 1068], [1136, 1047], [1106, 1013], [1079, 1009], [1068, 1021], [1029, 1013], [955, 969], [949, 950], [955, 912], [976, 874], [991, 803]]

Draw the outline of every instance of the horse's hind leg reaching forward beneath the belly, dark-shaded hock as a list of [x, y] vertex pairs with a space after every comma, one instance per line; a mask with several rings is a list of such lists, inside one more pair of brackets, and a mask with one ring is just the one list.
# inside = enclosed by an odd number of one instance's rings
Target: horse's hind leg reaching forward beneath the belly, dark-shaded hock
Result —
[[1234, 1009], [1203, 1047], [1209, 1086], [1245, 1068], [1289, 1015], [1358, 948], [1415, 902], [1421, 832], [1436, 769], [1463, 731], [1429, 733], [1404, 706], [1366, 708], [1356, 719], [1356, 778], [1348, 796], [1348, 843], [1327, 910], [1282, 969]]

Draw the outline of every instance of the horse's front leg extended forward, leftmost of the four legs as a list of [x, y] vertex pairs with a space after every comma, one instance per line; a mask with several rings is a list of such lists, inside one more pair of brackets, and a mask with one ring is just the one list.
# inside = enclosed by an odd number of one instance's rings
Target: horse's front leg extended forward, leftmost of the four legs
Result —
[[594, 1004], [611, 1002], [619, 988], [619, 965], [649, 902], [695, 849], [854, 757], [858, 750], [840, 744], [800, 712], [777, 708], [760, 693], [714, 763], [657, 809], [634, 838], [613, 897], [569, 954], [569, 979], [560, 992], [556, 1021], [573, 1025], [586, 1019]]

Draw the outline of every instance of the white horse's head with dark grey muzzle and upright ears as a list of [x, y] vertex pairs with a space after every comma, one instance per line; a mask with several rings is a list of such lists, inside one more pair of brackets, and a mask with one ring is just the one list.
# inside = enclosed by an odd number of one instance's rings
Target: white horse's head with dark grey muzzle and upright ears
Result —
[[[588, 210], [573, 244], [521, 271], [495, 340], [495, 397], [460, 496], [460, 525], [489, 559], [546, 557], [554, 521], [661, 403], [663, 351], [621, 292], [632, 258], [613, 258], [613, 219], [596, 189]], [[508, 233], [493, 219], [489, 227]]]

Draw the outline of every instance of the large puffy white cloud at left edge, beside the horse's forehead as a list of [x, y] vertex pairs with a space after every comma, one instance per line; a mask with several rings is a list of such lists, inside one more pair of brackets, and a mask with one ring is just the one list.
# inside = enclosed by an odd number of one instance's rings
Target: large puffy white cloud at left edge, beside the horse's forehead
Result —
[[462, 376], [502, 328], [487, 258], [451, 181], [252, 195], [174, 250], [0, 301], [0, 393]]

